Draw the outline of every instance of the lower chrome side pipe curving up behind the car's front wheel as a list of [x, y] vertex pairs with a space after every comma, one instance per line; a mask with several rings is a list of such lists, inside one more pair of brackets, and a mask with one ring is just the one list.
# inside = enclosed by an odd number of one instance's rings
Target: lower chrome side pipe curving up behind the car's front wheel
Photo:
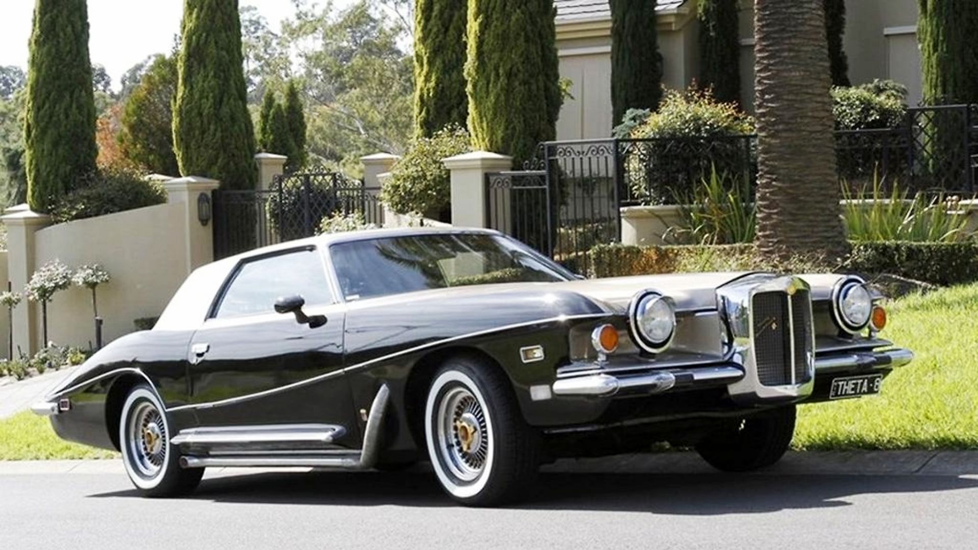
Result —
[[[181, 468], [344, 468], [347, 470], [370, 470], [377, 464], [380, 452], [380, 435], [383, 432], [383, 415], [387, 411], [390, 390], [381, 386], [374, 397], [364, 431], [362, 450], [351, 450], [333, 455], [309, 451], [308, 455], [283, 455], [275, 453], [242, 454], [222, 456], [181, 456]], [[174, 437], [176, 439], [176, 437]]]

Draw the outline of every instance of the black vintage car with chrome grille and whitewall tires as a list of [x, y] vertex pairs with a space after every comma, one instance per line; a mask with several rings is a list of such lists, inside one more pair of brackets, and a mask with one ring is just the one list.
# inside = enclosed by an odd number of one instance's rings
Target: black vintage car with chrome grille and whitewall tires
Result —
[[656, 441], [774, 464], [796, 404], [876, 393], [911, 361], [879, 338], [879, 299], [845, 275], [581, 280], [485, 230], [336, 234], [201, 267], [34, 410], [119, 449], [149, 496], [210, 466], [428, 459], [491, 505], [546, 461]]

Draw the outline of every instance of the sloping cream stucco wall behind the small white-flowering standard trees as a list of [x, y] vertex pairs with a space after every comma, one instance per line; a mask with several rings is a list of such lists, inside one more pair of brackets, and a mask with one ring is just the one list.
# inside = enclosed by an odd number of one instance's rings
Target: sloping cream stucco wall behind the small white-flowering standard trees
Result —
[[[111, 282], [98, 289], [109, 343], [133, 332], [134, 319], [158, 316], [183, 283], [189, 271], [187, 227], [185, 206], [173, 203], [54, 225], [36, 234], [36, 265], [58, 258], [70, 267], [100, 263], [109, 271]], [[38, 314], [38, 326], [40, 321]], [[87, 289], [55, 295], [48, 304], [48, 338], [60, 345], [94, 344]]]

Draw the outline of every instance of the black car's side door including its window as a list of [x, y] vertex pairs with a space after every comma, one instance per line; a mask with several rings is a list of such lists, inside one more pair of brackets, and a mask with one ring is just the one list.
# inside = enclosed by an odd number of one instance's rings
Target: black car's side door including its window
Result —
[[[276, 302], [289, 297], [304, 300], [299, 315], [276, 312]], [[314, 247], [243, 260], [191, 342], [190, 399], [199, 426], [325, 423], [355, 430], [342, 376], [344, 309]]]

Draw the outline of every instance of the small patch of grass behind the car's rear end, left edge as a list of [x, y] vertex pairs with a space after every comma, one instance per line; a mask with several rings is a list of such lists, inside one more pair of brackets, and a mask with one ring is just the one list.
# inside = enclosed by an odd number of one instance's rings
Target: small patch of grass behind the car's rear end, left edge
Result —
[[51, 428], [51, 421], [30, 411], [0, 420], [0, 460], [112, 458], [116, 453], [69, 443]]

